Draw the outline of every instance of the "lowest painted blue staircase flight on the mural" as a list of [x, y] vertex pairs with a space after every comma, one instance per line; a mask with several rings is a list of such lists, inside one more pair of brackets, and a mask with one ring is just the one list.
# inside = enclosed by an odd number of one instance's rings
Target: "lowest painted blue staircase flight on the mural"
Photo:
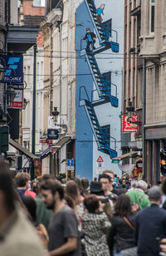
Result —
[[[107, 155], [110, 155], [111, 159], [116, 157], [117, 152], [115, 151], [115, 149], [110, 148], [110, 138], [112, 138], [112, 140], [115, 140], [115, 138], [110, 136], [110, 125], [104, 126], [104, 127], [100, 126], [97, 116], [95, 115], [93, 102], [90, 102], [89, 100], [85, 100], [85, 99], [80, 100], [80, 106], [85, 106], [85, 112], [90, 121], [90, 126], [95, 136], [98, 150], [100, 150], [101, 152]], [[116, 146], [116, 141], [115, 141], [115, 146]]]

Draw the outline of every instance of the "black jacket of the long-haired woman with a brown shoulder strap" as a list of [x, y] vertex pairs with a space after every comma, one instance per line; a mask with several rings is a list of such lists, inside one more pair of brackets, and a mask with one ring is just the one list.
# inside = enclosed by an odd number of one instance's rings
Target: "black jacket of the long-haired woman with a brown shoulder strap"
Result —
[[[131, 214], [126, 216], [126, 218], [134, 226], [135, 215]], [[129, 224], [125, 222], [125, 219], [120, 215], [115, 215], [111, 219], [111, 224], [112, 226], [107, 239], [110, 255], [113, 255], [114, 244], [116, 245], [117, 252], [135, 246], [134, 230], [129, 227]]]

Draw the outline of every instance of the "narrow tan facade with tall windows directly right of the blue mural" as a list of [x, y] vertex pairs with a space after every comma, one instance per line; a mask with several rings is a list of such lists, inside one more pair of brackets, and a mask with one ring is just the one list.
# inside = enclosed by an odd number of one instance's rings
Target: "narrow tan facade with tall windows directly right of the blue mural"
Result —
[[[143, 59], [140, 57], [141, 1], [125, 0], [124, 76], [122, 114], [127, 114], [129, 103], [139, 116], [138, 132], [122, 133], [123, 154], [136, 150], [142, 155], [142, 75]], [[124, 164], [134, 164], [134, 159], [125, 159]]]

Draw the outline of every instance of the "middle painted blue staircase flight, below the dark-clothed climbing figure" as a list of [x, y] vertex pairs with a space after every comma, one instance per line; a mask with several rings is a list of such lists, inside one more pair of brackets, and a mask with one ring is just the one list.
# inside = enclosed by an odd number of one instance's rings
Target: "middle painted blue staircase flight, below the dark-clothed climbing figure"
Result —
[[[85, 55], [86, 61], [90, 67], [91, 74], [95, 81], [95, 86], [98, 91], [98, 94], [101, 99], [105, 99], [105, 101], [110, 102], [112, 106], [118, 107], [119, 101], [117, 98], [117, 89], [116, 86], [111, 83], [110, 80], [106, 79], [106, 76], [101, 75], [99, 66], [95, 60], [95, 56], [92, 51], [86, 52], [83, 50], [81, 52], [82, 55]], [[115, 96], [111, 95], [111, 87], [115, 86], [116, 94]]]

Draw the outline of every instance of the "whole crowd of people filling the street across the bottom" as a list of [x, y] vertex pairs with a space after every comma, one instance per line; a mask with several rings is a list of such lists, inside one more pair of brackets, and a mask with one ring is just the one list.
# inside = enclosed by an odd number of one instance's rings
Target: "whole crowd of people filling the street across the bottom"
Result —
[[89, 180], [12, 176], [0, 161], [0, 255], [166, 256], [162, 185], [105, 170]]

